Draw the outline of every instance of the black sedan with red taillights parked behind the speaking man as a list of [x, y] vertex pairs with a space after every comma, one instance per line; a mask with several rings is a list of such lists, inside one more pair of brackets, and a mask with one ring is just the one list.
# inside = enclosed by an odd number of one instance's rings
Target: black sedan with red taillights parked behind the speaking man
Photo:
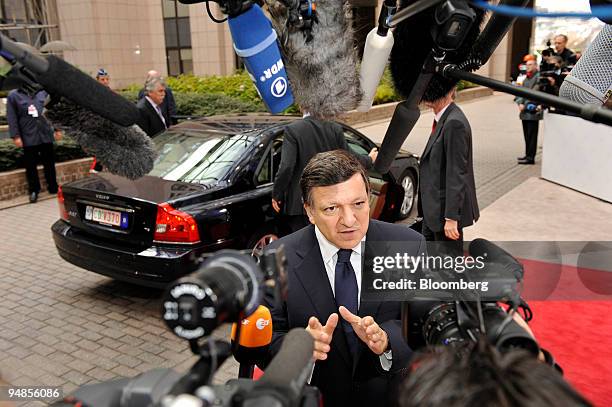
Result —
[[[153, 171], [136, 181], [100, 172], [64, 184], [53, 238], [60, 256], [87, 270], [163, 287], [198, 267], [203, 254], [252, 249], [283, 235], [271, 207], [283, 126], [295, 117], [217, 116], [185, 121], [155, 138]], [[343, 126], [350, 148], [375, 144]], [[413, 210], [418, 157], [401, 152], [389, 173], [371, 172], [373, 218]]]

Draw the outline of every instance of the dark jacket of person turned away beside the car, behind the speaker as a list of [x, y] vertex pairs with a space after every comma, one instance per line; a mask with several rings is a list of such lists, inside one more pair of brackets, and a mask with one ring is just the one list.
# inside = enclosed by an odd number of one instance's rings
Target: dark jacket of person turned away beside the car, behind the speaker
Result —
[[[308, 161], [318, 153], [348, 150], [342, 126], [338, 123], [306, 117], [285, 127], [281, 162], [274, 181], [272, 197], [282, 202], [285, 215], [303, 215], [300, 178]], [[368, 156], [358, 156], [366, 168], [372, 166]]]

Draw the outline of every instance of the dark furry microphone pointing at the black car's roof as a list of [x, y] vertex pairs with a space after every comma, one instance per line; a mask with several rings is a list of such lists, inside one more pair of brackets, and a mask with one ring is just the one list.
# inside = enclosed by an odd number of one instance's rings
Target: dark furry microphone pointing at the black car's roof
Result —
[[153, 169], [153, 141], [136, 125], [119, 126], [67, 99], [52, 100], [45, 116], [113, 174], [136, 179]]

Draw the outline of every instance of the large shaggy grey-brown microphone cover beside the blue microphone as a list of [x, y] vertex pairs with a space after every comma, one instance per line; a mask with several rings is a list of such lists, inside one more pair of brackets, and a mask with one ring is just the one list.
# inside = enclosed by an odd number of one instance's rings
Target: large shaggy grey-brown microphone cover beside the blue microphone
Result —
[[314, 12], [300, 0], [266, 3], [296, 103], [319, 119], [354, 109], [361, 89], [348, 4], [321, 0]]

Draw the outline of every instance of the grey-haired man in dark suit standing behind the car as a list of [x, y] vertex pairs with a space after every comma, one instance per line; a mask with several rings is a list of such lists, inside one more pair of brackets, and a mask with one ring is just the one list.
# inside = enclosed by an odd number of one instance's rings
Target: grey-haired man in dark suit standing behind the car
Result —
[[145, 97], [136, 103], [140, 111], [138, 126], [149, 137], [153, 137], [168, 128], [161, 111], [161, 104], [166, 95], [166, 84], [159, 78], [151, 78], [145, 83], [145, 93]]

